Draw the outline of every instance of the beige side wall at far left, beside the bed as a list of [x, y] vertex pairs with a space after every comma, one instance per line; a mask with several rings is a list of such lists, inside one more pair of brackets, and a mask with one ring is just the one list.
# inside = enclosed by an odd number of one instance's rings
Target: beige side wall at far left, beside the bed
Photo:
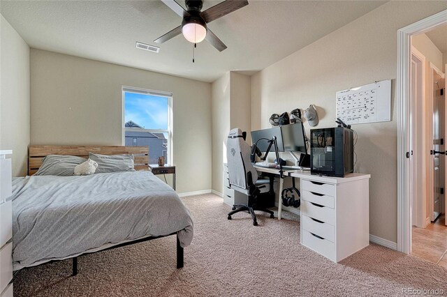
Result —
[[0, 149], [12, 149], [13, 176], [27, 174], [29, 46], [1, 15]]

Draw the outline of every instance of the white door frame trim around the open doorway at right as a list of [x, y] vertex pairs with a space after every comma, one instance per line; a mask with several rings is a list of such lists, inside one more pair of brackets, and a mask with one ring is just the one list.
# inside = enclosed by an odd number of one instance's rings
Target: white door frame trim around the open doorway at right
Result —
[[397, 250], [411, 252], [411, 36], [447, 24], [447, 10], [397, 30]]

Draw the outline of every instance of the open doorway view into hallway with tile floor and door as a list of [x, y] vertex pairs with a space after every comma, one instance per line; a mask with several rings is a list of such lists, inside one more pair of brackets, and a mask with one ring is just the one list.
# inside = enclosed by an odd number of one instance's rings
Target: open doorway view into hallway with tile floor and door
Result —
[[411, 37], [410, 120], [411, 153], [414, 153], [410, 181], [411, 254], [447, 268], [444, 210], [447, 112], [444, 73], [439, 70], [444, 68], [443, 52], [447, 53], [444, 40], [447, 25]]

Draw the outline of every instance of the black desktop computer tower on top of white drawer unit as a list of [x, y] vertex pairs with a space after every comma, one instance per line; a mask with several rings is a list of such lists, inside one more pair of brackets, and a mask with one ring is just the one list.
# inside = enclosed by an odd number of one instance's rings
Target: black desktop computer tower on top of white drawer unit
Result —
[[354, 172], [353, 135], [344, 127], [310, 130], [311, 173], [344, 177]]

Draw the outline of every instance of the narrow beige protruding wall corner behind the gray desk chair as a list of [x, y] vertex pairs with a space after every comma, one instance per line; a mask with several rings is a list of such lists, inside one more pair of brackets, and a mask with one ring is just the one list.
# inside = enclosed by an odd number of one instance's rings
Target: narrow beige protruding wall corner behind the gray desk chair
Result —
[[229, 72], [212, 83], [212, 190], [222, 193], [226, 137], [233, 128], [247, 131], [251, 141], [251, 79]]

